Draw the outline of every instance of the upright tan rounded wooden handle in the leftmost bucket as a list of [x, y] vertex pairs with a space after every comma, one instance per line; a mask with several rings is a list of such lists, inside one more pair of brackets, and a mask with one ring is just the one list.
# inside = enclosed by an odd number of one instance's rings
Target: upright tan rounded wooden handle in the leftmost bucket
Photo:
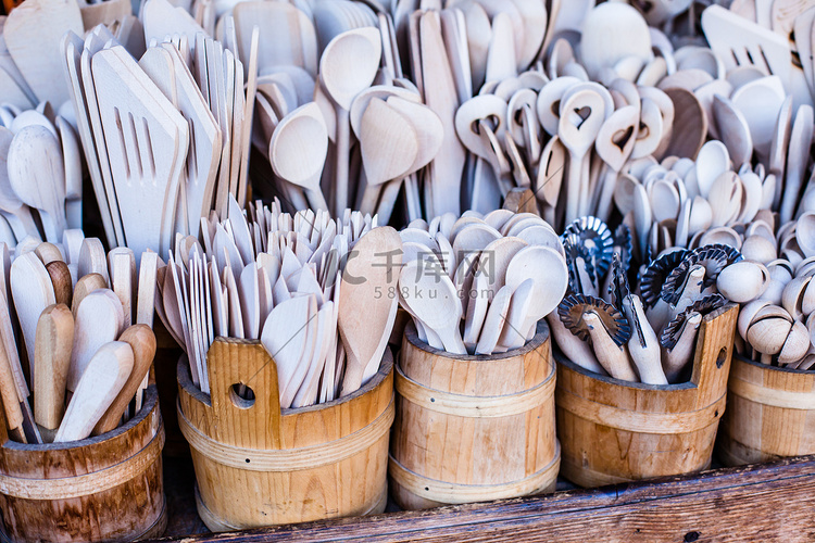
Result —
[[37, 321], [34, 365], [34, 417], [39, 426], [55, 430], [65, 406], [65, 384], [74, 342], [74, 316], [67, 305], [46, 307]]

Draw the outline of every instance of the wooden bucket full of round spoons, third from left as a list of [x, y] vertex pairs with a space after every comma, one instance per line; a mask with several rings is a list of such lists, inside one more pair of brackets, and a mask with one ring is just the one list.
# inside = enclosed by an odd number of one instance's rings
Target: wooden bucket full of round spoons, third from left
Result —
[[405, 509], [554, 491], [555, 368], [549, 326], [524, 348], [459, 356], [411, 323], [397, 367], [391, 496]]

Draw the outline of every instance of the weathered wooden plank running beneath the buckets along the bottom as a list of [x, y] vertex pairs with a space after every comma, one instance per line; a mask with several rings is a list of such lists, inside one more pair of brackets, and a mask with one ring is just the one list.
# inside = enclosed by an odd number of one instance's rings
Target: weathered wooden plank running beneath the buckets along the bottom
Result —
[[542, 497], [208, 534], [191, 463], [167, 458], [163, 541], [693, 542], [815, 540], [815, 455]]

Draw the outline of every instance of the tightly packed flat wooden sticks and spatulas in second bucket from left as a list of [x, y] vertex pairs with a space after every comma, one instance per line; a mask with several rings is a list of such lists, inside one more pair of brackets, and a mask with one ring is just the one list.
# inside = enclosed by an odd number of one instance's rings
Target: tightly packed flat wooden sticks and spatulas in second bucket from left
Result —
[[228, 210], [205, 222], [203, 247], [178, 235], [159, 270], [156, 311], [192, 381], [209, 393], [206, 352], [223, 336], [260, 339], [277, 364], [283, 407], [359, 389], [378, 371], [396, 319], [396, 230], [350, 210], [331, 219], [258, 203], [248, 220], [231, 198]]

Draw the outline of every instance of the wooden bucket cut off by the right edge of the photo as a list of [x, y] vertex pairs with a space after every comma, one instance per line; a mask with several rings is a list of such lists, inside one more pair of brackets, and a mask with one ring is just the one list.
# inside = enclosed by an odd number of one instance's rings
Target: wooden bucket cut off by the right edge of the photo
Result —
[[815, 454], [815, 372], [734, 357], [716, 454], [728, 466]]

